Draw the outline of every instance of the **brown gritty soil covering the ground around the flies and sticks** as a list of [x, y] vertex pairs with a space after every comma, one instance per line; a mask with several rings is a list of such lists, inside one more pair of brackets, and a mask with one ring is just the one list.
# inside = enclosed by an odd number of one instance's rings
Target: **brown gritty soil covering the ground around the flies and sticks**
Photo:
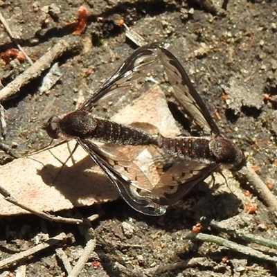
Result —
[[[21, 88], [18, 96], [2, 103], [7, 123], [3, 142], [21, 154], [48, 145], [49, 138], [42, 124], [53, 114], [73, 111], [80, 100], [80, 91], [84, 98], [89, 96], [134, 51], [135, 46], [126, 39], [124, 28], [118, 26], [119, 19], [124, 19], [146, 42], [171, 44], [170, 51], [194, 80], [211, 113], [217, 111], [220, 115], [217, 125], [222, 132], [244, 150], [247, 159], [258, 167], [260, 177], [274, 184], [277, 175], [277, 3], [214, 2], [0, 1], [3, 17], [32, 60], [44, 55], [60, 39], [71, 39], [76, 44], [73, 51], [57, 60], [63, 75], [51, 91], [38, 92], [42, 76]], [[72, 35], [72, 23], [82, 5], [89, 10], [87, 28], [82, 35]], [[0, 53], [10, 48], [17, 46], [1, 26]], [[3, 62], [0, 66], [3, 87], [28, 66], [26, 61]], [[87, 74], [89, 70], [91, 74]], [[101, 103], [97, 111], [109, 117], [132, 102], [137, 94], [129, 93], [116, 105]], [[2, 153], [0, 159], [1, 164], [11, 160]], [[247, 184], [242, 186], [247, 188]], [[277, 276], [273, 262], [211, 242], [183, 239], [202, 216], [217, 221], [245, 216], [243, 204], [234, 208], [230, 195], [200, 185], [186, 199], [170, 206], [163, 217], [137, 213], [123, 200], [76, 208], [72, 213], [81, 213], [84, 217], [100, 214], [92, 223], [97, 242], [95, 252], [79, 276], [145, 276], [145, 269], [161, 265], [175, 266], [157, 276]], [[274, 219], [262, 199], [256, 197], [258, 210], [247, 214], [240, 231], [275, 240]], [[48, 222], [35, 215], [2, 217], [0, 230], [1, 260], [35, 246], [42, 234], [52, 237], [64, 232], [71, 234], [63, 249], [74, 265], [86, 244], [78, 226]], [[206, 233], [219, 235], [214, 229], [207, 229]], [[231, 240], [231, 236], [228, 238]], [[238, 238], [232, 239], [245, 244]], [[0, 269], [0, 276], [15, 276], [19, 265], [26, 265], [26, 276], [66, 276], [55, 249], [50, 247], [20, 264]], [[256, 249], [265, 251], [265, 247]], [[270, 253], [274, 256], [276, 250], [270, 249]], [[186, 267], [176, 265], [195, 258], [205, 258], [206, 262], [201, 260]], [[127, 271], [123, 272], [118, 263]]]

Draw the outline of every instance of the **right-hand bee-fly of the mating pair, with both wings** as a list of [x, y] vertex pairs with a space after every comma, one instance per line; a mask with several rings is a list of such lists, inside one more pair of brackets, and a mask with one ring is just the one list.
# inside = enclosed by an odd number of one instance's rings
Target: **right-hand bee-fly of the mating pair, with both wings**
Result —
[[188, 116], [208, 127], [213, 134], [212, 137], [156, 136], [156, 145], [179, 160], [161, 176], [152, 189], [154, 202], [170, 205], [216, 170], [224, 167], [237, 171], [244, 166], [246, 160], [244, 153], [222, 136], [177, 58], [161, 46], [157, 46], [157, 56], [168, 75], [179, 105]]

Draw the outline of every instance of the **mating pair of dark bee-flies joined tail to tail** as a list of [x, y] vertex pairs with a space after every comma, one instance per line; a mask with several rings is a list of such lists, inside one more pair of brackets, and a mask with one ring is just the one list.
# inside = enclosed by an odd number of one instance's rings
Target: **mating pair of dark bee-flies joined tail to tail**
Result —
[[[197, 123], [208, 127], [213, 137], [152, 135], [91, 115], [93, 106], [99, 100], [118, 91], [127, 93], [134, 81], [142, 78], [143, 72], [155, 62], [161, 62], [179, 105]], [[138, 48], [80, 108], [63, 118], [51, 117], [44, 129], [53, 139], [64, 136], [78, 141], [116, 186], [123, 199], [136, 211], [146, 215], [163, 215], [166, 206], [177, 202], [222, 166], [229, 170], [240, 170], [245, 163], [243, 152], [220, 134], [183, 66], [161, 44]], [[107, 144], [96, 145], [93, 139]], [[153, 185], [139, 166], [112, 145], [155, 145], [177, 161]], [[118, 167], [123, 168], [124, 174], [116, 170]]]

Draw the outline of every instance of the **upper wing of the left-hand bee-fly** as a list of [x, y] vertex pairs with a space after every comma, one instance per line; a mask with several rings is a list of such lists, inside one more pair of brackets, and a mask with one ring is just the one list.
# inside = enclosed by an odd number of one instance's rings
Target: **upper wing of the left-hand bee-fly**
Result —
[[146, 75], [154, 62], [158, 61], [157, 47], [159, 44], [142, 46], [130, 55], [120, 68], [111, 75], [80, 107], [91, 109], [99, 100], [103, 100], [120, 91], [128, 91], [134, 82]]

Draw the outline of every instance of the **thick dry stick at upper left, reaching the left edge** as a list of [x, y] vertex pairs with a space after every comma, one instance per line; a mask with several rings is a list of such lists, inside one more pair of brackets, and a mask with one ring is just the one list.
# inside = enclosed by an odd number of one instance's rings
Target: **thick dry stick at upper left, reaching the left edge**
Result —
[[[65, 51], [68, 51], [70, 44], [64, 39], [60, 40], [53, 48], [51, 48], [46, 54], [30, 66], [26, 71], [17, 76], [15, 80], [10, 82], [0, 91], [0, 102], [6, 98], [14, 95], [19, 91], [19, 89], [24, 85], [30, 82], [30, 80], [37, 78], [41, 75], [42, 71], [48, 69], [51, 66], [53, 60], [62, 55]], [[73, 46], [72, 46], [73, 47]]]

